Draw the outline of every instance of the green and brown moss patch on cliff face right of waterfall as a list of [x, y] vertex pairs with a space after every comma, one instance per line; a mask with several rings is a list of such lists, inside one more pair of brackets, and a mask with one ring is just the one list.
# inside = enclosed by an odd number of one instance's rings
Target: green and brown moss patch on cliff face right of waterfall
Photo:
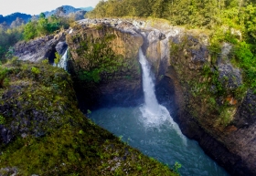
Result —
[[[193, 40], [190, 41], [188, 37], [183, 36], [179, 42], [170, 43], [171, 63], [176, 69], [182, 87], [187, 92], [185, 97], [187, 111], [206, 130], [208, 130], [208, 124], [215, 124], [220, 129], [225, 128], [230, 124], [234, 115], [230, 109], [238, 106], [237, 104], [230, 105], [227, 98], [241, 100], [246, 88], [241, 86], [228, 91], [222, 84], [215, 65], [216, 57], [220, 52], [220, 47], [214, 46], [217, 43], [209, 48], [211, 61], [204, 62], [200, 67], [191, 68], [190, 65], [193, 63], [189, 61], [189, 57], [191, 57], [191, 50], [194, 50], [195, 46], [190, 44]], [[216, 47], [216, 50], [212, 47]], [[223, 79], [225, 80], [225, 77]]]

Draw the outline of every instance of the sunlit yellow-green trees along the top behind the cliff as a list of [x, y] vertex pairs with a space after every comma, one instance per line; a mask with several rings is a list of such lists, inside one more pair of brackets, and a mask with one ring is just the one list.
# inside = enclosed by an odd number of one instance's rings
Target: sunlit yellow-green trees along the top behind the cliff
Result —
[[[254, 8], [251, 6], [238, 4], [235, 0], [101, 0], [86, 16], [153, 16], [168, 19], [173, 25], [211, 28], [227, 23], [236, 26], [245, 18], [254, 16]], [[252, 34], [253, 23], [248, 26], [251, 26]]]

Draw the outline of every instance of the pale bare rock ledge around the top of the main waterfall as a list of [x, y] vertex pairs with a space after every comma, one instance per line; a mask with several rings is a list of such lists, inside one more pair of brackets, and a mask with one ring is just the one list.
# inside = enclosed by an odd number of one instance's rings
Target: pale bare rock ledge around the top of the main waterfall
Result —
[[[129, 35], [142, 37], [138, 43], [129, 44], [129, 39], [124, 39], [124, 44], [115, 43], [113, 49], [118, 54], [125, 54], [125, 57], [137, 57], [137, 47], [142, 47], [144, 55], [148, 58], [155, 73], [155, 78], [165, 74], [166, 67], [169, 65], [169, 37], [179, 37], [184, 33], [184, 28], [169, 26], [165, 22], [157, 23], [150, 20], [133, 19], [84, 19], [78, 24], [82, 27], [93, 27], [97, 25], [109, 26], [118, 31], [117, 36]], [[128, 44], [128, 45], [127, 45]], [[115, 46], [115, 47], [114, 47]], [[129, 48], [123, 51], [124, 47]], [[125, 48], [124, 48], [125, 49]], [[129, 51], [130, 50], [130, 51]], [[130, 55], [127, 55], [129, 53]]]

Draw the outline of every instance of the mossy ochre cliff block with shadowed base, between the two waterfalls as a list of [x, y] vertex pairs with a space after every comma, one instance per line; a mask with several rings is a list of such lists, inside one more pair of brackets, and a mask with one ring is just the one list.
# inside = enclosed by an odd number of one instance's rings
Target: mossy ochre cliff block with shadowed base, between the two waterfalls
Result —
[[143, 95], [137, 59], [143, 42], [142, 36], [112, 26], [73, 26], [67, 36], [73, 58], [69, 70], [80, 95], [81, 109], [131, 105]]

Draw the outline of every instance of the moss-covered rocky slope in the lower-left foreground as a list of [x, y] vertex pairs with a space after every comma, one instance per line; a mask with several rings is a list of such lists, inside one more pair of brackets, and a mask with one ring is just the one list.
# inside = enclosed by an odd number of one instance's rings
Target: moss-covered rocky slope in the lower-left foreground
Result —
[[17, 175], [176, 175], [87, 119], [63, 69], [46, 63], [5, 67], [10, 85], [1, 91], [0, 114], [6, 129], [17, 130], [0, 146], [0, 174], [15, 168]]

